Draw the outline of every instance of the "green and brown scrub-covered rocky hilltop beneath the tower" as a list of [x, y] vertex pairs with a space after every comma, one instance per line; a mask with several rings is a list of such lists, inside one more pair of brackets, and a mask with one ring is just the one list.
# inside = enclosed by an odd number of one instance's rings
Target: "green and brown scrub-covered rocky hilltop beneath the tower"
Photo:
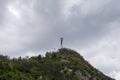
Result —
[[30, 58], [0, 55], [0, 80], [114, 80], [74, 50], [62, 48]]

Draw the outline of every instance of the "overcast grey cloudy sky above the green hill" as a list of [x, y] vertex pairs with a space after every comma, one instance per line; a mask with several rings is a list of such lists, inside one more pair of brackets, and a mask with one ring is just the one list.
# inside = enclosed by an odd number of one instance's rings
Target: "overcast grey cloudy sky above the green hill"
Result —
[[0, 0], [0, 53], [44, 55], [64, 47], [120, 80], [120, 0]]

